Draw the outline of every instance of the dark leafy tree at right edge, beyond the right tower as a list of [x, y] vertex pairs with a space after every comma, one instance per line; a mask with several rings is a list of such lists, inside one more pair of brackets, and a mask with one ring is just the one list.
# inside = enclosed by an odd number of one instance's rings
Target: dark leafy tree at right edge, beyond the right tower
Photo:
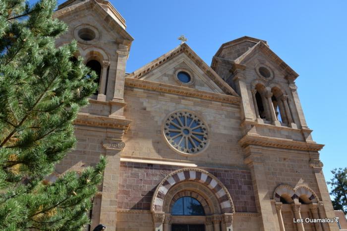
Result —
[[347, 214], [347, 168], [339, 168], [331, 171], [334, 177], [329, 185], [332, 185], [330, 195], [334, 196], [333, 206], [335, 210], [342, 210]]

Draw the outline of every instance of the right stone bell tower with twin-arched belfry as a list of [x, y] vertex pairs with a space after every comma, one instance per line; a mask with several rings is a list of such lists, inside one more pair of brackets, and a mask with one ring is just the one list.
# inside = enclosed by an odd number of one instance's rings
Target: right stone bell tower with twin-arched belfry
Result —
[[[279, 185], [291, 188], [291, 196], [299, 194], [295, 194], [295, 187], [314, 188], [312, 191], [319, 198], [306, 200], [306, 204], [319, 204], [322, 218], [334, 217], [318, 152], [324, 145], [313, 141], [312, 130], [306, 124], [294, 82], [298, 74], [266, 41], [250, 37], [223, 44], [211, 67], [241, 96], [243, 137], [238, 143], [243, 148], [244, 163], [251, 171], [262, 230], [282, 231], [285, 227], [282, 215], [274, 215], [286, 203], [285, 199], [274, 197]], [[290, 198], [281, 193], [279, 198]], [[301, 204], [306, 206], [300, 201], [287, 200], [293, 205], [289, 210], [295, 216], [301, 216]], [[281, 214], [281, 210], [277, 212]], [[322, 226], [336, 230], [333, 223]], [[302, 230], [302, 224], [297, 229]]]

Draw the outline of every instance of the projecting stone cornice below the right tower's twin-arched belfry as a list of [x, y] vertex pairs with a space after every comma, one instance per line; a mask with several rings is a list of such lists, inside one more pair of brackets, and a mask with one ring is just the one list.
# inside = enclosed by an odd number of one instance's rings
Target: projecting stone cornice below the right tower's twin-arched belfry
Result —
[[320, 151], [324, 147], [324, 144], [318, 144], [316, 142], [302, 142], [302, 141], [295, 141], [292, 139], [264, 137], [264, 136], [249, 135], [249, 134], [242, 137], [238, 141], [238, 143], [241, 145], [241, 147], [246, 147], [248, 145], [259, 145], [259, 146], [294, 149], [294, 150], [301, 150], [301, 151]]

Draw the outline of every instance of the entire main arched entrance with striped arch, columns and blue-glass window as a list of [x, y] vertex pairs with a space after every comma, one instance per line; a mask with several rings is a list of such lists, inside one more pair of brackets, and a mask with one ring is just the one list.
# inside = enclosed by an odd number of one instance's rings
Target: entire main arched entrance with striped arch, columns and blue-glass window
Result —
[[155, 231], [232, 231], [227, 188], [201, 169], [180, 169], [157, 186], [152, 198]]

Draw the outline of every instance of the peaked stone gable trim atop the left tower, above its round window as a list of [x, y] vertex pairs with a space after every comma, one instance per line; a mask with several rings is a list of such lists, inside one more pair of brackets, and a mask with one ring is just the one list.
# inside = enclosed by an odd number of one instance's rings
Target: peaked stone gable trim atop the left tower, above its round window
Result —
[[111, 31], [115, 31], [124, 40], [133, 41], [134, 39], [125, 30], [125, 20], [119, 12], [112, 6], [109, 1], [105, 0], [68, 0], [58, 6], [58, 10], [54, 13], [54, 17], [62, 18], [74, 15], [77, 12], [89, 10], [95, 12], [103, 23], [106, 24]]

